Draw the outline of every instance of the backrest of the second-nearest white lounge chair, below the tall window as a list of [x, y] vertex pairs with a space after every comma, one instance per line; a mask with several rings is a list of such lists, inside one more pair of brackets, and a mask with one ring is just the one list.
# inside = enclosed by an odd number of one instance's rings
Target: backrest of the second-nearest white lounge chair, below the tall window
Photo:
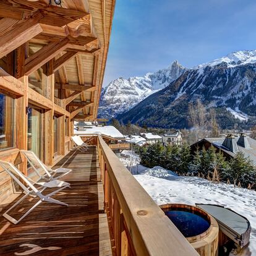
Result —
[[28, 160], [30, 166], [34, 169], [35, 173], [38, 174], [39, 177], [43, 177], [45, 174], [47, 174], [48, 177], [51, 177], [47, 166], [38, 158], [38, 156], [36, 156], [33, 151], [20, 150], [20, 152], [22, 152], [22, 154]]

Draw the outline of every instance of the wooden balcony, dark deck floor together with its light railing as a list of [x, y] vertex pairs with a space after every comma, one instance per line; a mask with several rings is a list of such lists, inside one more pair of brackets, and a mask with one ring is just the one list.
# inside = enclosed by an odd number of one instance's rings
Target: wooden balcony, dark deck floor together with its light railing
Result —
[[198, 255], [105, 141], [96, 140], [55, 166], [73, 169], [63, 179], [71, 188], [55, 197], [68, 207], [42, 203], [17, 225], [0, 218], [0, 255]]

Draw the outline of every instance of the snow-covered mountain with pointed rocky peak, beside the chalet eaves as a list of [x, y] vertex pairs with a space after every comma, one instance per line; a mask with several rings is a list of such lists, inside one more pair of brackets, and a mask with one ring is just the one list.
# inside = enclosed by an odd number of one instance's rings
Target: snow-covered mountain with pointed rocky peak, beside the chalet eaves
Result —
[[144, 77], [120, 77], [113, 80], [101, 92], [98, 116], [111, 118], [128, 111], [152, 93], [168, 86], [186, 70], [174, 61], [166, 69], [148, 73]]

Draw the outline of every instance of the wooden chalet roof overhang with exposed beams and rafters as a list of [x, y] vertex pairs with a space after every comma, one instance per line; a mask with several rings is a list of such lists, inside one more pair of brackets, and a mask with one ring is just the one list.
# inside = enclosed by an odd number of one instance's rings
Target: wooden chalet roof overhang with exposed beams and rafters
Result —
[[[6, 10], [1, 19], [36, 24], [38, 29], [22, 38], [28, 48], [25, 75], [28, 75], [29, 88], [43, 95], [42, 68], [51, 61], [55, 77], [54, 103], [67, 109], [70, 119], [94, 121], [97, 117], [114, 4], [114, 0], [62, 0], [61, 6], [49, 0], [0, 2], [0, 9]], [[27, 19], [30, 12], [33, 19]], [[37, 12], [44, 18], [32, 15]], [[15, 26], [19, 29], [19, 24]], [[22, 40], [11, 42], [10, 46], [19, 46]], [[6, 58], [11, 51], [11, 47], [6, 47], [1, 58]], [[62, 96], [58, 95], [59, 91]]]

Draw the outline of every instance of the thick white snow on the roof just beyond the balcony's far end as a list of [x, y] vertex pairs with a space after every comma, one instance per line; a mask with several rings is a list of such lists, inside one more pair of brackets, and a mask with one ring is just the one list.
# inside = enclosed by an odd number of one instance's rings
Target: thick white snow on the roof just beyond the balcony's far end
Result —
[[124, 135], [119, 132], [114, 126], [90, 126], [85, 130], [76, 130], [74, 129], [74, 134], [100, 134], [110, 136], [112, 138], [124, 138]]

